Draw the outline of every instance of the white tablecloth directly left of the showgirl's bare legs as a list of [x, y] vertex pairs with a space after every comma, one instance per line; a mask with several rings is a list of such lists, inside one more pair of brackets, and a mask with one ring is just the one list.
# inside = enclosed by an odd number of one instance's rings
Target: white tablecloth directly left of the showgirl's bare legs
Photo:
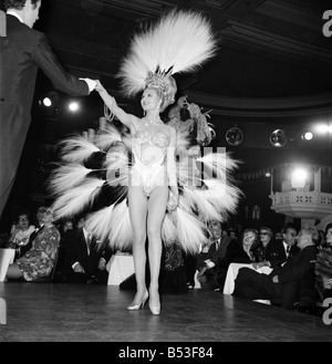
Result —
[[107, 284], [120, 285], [135, 273], [133, 256], [116, 253], [110, 259], [106, 269], [108, 271]]

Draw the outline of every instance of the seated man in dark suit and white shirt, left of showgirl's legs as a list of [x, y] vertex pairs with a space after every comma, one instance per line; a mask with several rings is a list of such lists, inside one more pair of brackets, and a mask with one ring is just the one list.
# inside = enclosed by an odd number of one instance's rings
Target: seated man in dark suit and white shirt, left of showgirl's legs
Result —
[[[108, 247], [101, 250], [95, 237], [82, 226], [68, 230], [62, 240], [65, 259], [65, 281], [68, 283], [107, 284], [106, 264], [112, 256]], [[82, 222], [83, 221], [83, 222]]]

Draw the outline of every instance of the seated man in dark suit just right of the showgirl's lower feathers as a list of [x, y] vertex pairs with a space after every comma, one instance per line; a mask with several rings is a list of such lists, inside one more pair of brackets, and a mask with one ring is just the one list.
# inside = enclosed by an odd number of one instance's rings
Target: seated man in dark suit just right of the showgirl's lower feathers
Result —
[[197, 257], [197, 280], [203, 289], [221, 290], [224, 287], [225, 257], [231, 238], [222, 231], [220, 221], [211, 221], [209, 243]]

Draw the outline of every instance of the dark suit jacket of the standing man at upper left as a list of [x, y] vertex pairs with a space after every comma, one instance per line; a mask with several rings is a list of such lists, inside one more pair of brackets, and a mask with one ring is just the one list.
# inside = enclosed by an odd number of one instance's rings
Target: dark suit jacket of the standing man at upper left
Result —
[[7, 15], [7, 37], [0, 37], [0, 215], [14, 179], [30, 126], [38, 69], [54, 87], [76, 96], [89, 95], [85, 81], [58, 62], [43, 33]]

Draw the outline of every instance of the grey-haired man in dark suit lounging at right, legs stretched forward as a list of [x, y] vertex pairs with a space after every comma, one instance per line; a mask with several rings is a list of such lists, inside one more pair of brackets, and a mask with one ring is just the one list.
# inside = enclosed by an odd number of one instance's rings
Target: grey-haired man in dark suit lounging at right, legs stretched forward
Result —
[[298, 294], [300, 298], [313, 299], [314, 263], [318, 253], [315, 238], [314, 229], [301, 229], [298, 236], [300, 251], [282, 267], [276, 267], [269, 275], [241, 268], [235, 281], [234, 295], [249, 300], [270, 300], [272, 304], [281, 304], [289, 310], [294, 306]]

